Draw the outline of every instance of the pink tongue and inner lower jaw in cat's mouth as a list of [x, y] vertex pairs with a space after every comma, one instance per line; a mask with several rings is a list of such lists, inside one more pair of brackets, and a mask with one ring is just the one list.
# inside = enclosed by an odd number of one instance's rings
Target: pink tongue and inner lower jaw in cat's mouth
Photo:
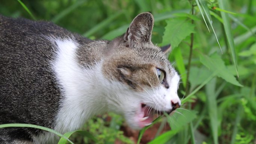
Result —
[[153, 111], [149, 107], [141, 106], [141, 111], [139, 113], [139, 126], [141, 128], [150, 125], [153, 122]]

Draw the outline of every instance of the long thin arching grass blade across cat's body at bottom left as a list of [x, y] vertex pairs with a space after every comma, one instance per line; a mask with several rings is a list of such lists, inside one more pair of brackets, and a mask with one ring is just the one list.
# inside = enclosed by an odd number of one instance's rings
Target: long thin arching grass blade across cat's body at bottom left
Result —
[[71, 144], [74, 144], [72, 141], [70, 141], [67, 137], [65, 137], [65, 135], [61, 134], [60, 132], [54, 131], [53, 129], [45, 128], [43, 126], [24, 124], [24, 123], [9, 123], [9, 124], [0, 125], [0, 128], [8, 128], [8, 127], [26, 127], [26, 128], [42, 129], [44, 131], [52, 132], [52, 133], [64, 138], [65, 140], [69, 141]]

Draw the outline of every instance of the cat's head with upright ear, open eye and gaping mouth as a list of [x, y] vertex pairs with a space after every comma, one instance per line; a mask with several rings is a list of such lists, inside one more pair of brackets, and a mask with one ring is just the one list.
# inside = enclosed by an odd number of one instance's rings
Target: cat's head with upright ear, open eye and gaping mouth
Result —
[[180, 107], [180, 77], [151, 42], [153, 23], [151, 13], [136, 16], [127, 32], [109, 43], [102, 67], [109, 109], [123, 114], [134, 129], [150, 125], [154, 113]]

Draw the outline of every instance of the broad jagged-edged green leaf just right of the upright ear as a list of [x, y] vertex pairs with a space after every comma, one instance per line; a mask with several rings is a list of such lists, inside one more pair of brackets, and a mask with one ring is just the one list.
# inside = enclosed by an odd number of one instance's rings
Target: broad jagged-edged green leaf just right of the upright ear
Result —
[[190, 19], [173, 18], [166, 22], [162, 45], [171, 43], [172, 48], [176, 48], [189, 34], [195, 33], [195, 25]]

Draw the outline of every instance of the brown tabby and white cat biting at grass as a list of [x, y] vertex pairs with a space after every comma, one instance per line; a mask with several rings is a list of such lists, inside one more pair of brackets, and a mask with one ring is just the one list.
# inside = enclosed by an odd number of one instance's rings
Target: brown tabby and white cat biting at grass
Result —
[[[0, 124], [65, 133], [114, 111], [142, 128], [152, 122], [151, 107], [176, 109], [179, 76], [151, 43], [152, 27], [152, 15], [142, 13], [124, 36], [89, 40], [50, 22], [0, 16]], [[33, 128], [0, 129], [0, 144], [56, 143], [54, 137]]]

